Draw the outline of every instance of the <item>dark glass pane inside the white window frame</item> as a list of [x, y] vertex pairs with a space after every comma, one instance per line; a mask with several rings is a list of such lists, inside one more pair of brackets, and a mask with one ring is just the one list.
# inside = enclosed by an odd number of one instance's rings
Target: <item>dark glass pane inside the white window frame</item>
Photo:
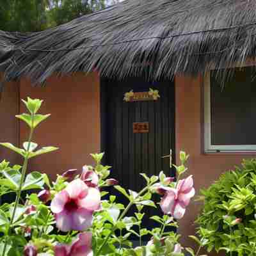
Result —
[[235, 68], [223, 88], [211, 72], [211, 144], [256, 145], [255, 67]]

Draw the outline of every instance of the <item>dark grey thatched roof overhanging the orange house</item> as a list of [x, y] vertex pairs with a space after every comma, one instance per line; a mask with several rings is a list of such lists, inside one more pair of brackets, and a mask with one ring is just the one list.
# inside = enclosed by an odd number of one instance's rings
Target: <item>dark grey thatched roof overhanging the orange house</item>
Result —
[[255, 35], [255, 0], [126, 0], [39, 33], [1, 32], [0, 66], [8, 52], [6, 80], [94, 69], [172, 78], [255, 57]]

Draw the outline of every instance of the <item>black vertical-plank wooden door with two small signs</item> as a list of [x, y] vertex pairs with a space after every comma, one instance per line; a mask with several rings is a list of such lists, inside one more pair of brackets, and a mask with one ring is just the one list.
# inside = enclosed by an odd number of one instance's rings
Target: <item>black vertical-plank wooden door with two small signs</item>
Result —
[[[145, 180], [140, 173], [158, 175], [161, 170], [173, 175], [174, 158], [174, 84], [172, 81], [146, 82], [133, 78], [102, 81], [102, 143], [111, 177], [124, 188], [140, 191]], [[125, 102], [124, 94], [159, 90], [157, 101]], [[134, 133], [134, 122], [148, 122], [148, 133]]]

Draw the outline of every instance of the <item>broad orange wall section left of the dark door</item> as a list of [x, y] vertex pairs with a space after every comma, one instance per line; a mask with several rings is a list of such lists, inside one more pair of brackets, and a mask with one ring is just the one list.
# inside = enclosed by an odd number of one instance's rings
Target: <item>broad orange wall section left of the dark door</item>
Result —
[[[56, 173], [92, 164], [89, 154], [100, 151], [100, 81], [96, 73], [51, 77], [43, 88], [22, 79], [20, 97], [44, 99], [40, 112], [51, 113], [51, 117], [36, 129], [33, 141], [40, 147], [60, 147], [31, 159], [29, 170], [43, 171], [55, 178]], [[20, 124], [20, 143], [27, 138], [26, 125]]]

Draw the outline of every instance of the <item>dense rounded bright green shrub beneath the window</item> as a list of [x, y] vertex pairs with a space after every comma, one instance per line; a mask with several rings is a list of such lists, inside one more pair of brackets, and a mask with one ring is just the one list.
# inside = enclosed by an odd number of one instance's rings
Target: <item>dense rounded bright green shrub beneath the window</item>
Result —
[[204, 208], [196, 223], [207, 250], [256, 255], [256, 159], [243, 160], [242, 168], [222, 174], [201, 194]]

